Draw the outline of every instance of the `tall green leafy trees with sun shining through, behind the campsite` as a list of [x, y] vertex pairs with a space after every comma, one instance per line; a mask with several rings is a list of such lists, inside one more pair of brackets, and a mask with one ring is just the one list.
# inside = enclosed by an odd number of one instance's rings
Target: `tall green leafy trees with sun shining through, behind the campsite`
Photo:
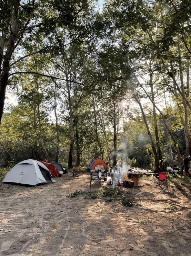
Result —
[[0, 165], [100, 157], [160, 171], [189, 157], [191, 2], [98, 6], [1, 1]]

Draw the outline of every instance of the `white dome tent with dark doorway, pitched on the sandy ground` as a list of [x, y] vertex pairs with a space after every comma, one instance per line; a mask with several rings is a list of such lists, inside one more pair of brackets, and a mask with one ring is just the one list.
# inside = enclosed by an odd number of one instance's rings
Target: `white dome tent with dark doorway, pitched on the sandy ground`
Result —
[[38, 186], [51, 182], [53, 180], [49, 169], [41, 162], [33, 159], [18, 163], [3, 179], [3, 183], [25, 186]]

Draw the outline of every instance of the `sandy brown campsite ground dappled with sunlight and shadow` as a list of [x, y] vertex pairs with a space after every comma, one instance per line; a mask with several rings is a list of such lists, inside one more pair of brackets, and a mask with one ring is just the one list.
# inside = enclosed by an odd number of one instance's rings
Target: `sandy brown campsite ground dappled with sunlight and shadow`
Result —
[[0, 183], [0, 228], [10, 231], [0, 235], [0, 255], [191, 256], [190, 192], [171, 187], [159, 193], [152, 179], [142, 179], [135, 193], [184, 206], [170, 211], [161, 201], [125, 207], [104, 198], [67, 197], [89, 190], [88, 173], [73, 178], [70, 171], [56, 181], [38, 187]]

